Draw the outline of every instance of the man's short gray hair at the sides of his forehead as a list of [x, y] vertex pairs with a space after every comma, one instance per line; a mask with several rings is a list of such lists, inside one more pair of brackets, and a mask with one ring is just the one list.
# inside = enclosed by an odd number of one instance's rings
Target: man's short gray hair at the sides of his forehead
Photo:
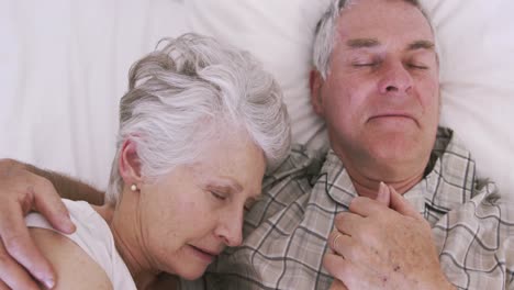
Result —
[[[323, 79], [326, 79], [329, 72], [329, 63], [332, 51], [337, 41], [337, 21], [340, 11], [350, 5], [355, 0], [331, 0], [328, 9], [323, 13], [315, 30], [314, 48], [313, 48], [313, 63], [317, 71], [320, 71]], [[416, 8], [425, 15], [428, 24], [434, 31], [432, 22], [425, 11], [422, 9], [417, 0], [404, 0]], [[437, 49], [436, 49], [437, 51]]]

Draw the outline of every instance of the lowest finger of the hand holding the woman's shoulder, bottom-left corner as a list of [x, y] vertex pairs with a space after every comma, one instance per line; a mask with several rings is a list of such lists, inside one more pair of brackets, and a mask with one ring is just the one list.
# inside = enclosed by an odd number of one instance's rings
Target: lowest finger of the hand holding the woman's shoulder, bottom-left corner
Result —
[[5, 252], [0, 243], [0, 290], [38, 290], [37, 282]]

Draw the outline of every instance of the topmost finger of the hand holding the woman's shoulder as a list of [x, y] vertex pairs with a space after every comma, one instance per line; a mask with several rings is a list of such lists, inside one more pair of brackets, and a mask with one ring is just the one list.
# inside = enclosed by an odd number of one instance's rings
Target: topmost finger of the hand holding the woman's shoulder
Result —
[[54, 186], [43, 179], [38, 190], [41, 191], [40, 194], [34, 194], [34, 210], [45, 216], [54, 228], [65, 234], [72, 234], [76, 230], [75, 224], [71, 222], [68, 209], [60, 200]]

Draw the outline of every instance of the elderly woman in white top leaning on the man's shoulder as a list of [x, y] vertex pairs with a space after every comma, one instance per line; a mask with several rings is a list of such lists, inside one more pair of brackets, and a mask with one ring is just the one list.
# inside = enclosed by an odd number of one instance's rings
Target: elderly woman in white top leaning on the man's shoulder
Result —
[[249, 54], [194, 34], [165, 44], [130, 71], [107, 203], [65, 200], [71, 235], [26, 217], [57, 289], [200, 277], [241, 244], [245, 205], [289, 150], [279, 87]]

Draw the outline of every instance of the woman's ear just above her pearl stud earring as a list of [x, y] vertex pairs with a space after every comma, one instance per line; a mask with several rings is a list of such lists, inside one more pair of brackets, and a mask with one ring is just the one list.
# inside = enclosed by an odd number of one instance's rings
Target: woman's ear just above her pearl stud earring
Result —
[[123, 142], [122, 149], [119, 158], [120, 176], [123, 178], [125, 185], [135, 185], [141, 188], [141, 159], [137, 155], [137, 146], [132, 140]]

